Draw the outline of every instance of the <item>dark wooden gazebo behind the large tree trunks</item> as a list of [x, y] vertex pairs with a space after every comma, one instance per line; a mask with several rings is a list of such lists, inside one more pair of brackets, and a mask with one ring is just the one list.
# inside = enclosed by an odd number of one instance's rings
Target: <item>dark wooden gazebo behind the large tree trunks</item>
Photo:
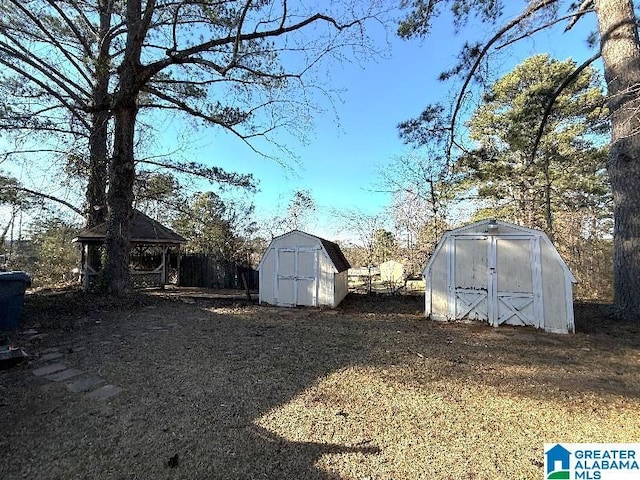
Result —
[[[101, 270], [101, 255], [91, 250], [104, 249], [107, 224], [81, 231], [74, 242], [82, 246], [81, 281], [92, 288]], [[163, 286], [180, 282], [180, 245], [187, 240], [161, 223], [134, 210], [131, 219], [131, 282], [134, 287]], [[97, 248], [96, 248], [97, 247]]]

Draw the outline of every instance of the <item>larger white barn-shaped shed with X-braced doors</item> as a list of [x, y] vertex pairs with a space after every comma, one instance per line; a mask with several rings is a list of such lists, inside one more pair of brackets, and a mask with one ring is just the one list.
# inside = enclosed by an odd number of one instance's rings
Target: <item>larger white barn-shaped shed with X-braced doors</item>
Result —
[[540, 230], [482, 220], [446, 232], [424, 269], [425, 315], [574, 332], [576, 279]]

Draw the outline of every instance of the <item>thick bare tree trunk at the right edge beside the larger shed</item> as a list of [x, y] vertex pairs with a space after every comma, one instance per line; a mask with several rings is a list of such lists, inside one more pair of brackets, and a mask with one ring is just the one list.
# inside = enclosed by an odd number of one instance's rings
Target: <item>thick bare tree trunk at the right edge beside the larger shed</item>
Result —
[[631, 0], [595, 0], [611, 110], [614, 307], [640, 321], [640, 40]]

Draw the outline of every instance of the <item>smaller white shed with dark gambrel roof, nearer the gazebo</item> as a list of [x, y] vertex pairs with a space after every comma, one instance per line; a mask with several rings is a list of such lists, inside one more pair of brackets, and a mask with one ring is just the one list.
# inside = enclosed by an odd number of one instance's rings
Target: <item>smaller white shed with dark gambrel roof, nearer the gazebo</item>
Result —
[[274, 238], [258, 271], [260, 303], [335, 308], [347, 295], [350, 265], [340, 247], [293, 230]]

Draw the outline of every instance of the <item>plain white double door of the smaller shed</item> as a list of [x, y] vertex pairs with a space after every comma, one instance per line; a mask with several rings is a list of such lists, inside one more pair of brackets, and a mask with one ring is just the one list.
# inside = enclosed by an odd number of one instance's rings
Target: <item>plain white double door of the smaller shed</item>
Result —
[[286, 307], [317, 306], [318, 250], [278, 248], [276, 258], [276, 303]]

